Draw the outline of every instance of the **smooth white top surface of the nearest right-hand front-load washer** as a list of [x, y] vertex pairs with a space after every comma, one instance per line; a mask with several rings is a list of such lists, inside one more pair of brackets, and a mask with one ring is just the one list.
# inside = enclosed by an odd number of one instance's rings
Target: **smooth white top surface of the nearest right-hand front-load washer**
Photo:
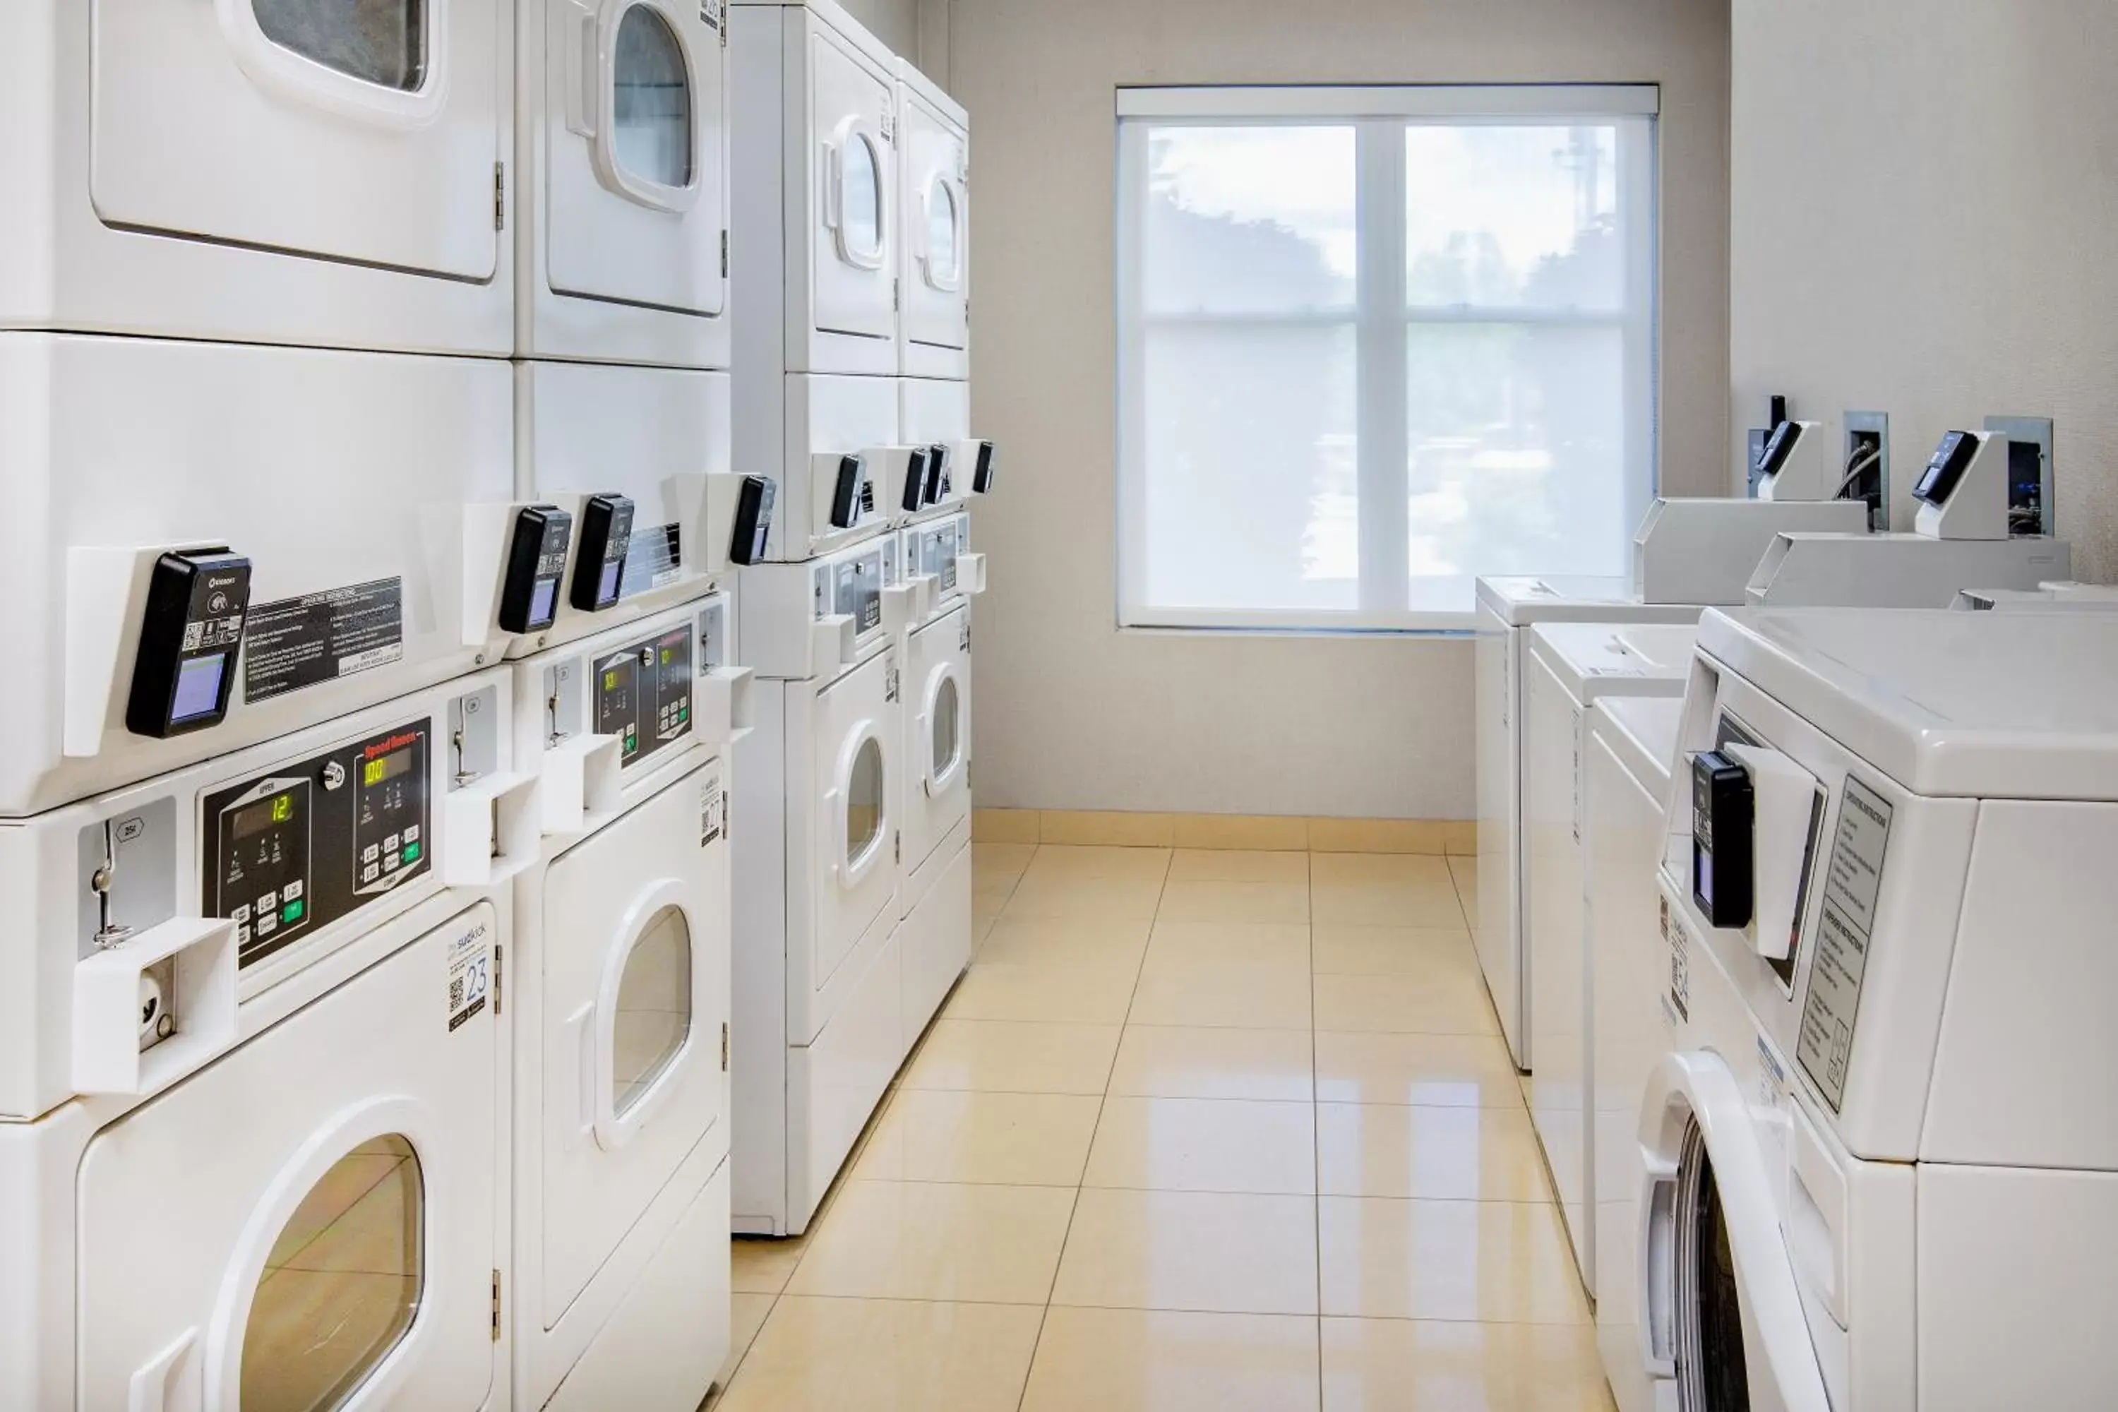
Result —
[[1915, 794], [2118, 800], [2118, 616], [1709, 612], [1701, 652]]

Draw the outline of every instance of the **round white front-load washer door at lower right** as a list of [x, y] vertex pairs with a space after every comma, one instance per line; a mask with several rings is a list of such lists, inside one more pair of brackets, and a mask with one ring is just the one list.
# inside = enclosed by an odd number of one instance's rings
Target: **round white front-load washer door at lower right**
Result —
[[1641, 1109], [1648, 1372], [1682, 1412], [1830, 1412], [1749, 1105], [1707, 1052], [1667, 1054]]

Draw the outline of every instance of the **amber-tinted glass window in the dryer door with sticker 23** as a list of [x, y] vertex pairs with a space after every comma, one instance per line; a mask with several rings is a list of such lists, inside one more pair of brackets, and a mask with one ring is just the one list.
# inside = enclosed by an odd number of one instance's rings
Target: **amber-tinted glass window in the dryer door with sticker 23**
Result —
[[405, 1338], [426, 1277], [426, 1188], [405, 1137], [360, 1143], [265, 1257], [244, 1327], [244, 1412], [337, 1408]]

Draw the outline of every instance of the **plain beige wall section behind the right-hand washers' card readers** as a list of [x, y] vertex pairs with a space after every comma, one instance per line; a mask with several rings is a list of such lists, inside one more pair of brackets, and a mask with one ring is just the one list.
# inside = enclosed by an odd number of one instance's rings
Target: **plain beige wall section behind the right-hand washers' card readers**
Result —
[[1889, 413], [1908, 527], [1942, 432], [2052, 417], [2076, 574], [2118, 574], [2118, 6], [1735, 0], [1733, 49], [1737, 421]]

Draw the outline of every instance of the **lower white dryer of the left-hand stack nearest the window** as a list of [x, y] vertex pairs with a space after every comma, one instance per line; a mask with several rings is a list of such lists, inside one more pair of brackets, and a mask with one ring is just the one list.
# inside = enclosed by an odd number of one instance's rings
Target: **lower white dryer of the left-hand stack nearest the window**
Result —
[[970, 965], [970, 599], [985, 557], [970, 517], [904, 529], [923, 618], [904, 633], [904, 864], [898, 887], [904, 1033], [917, 1037]]

